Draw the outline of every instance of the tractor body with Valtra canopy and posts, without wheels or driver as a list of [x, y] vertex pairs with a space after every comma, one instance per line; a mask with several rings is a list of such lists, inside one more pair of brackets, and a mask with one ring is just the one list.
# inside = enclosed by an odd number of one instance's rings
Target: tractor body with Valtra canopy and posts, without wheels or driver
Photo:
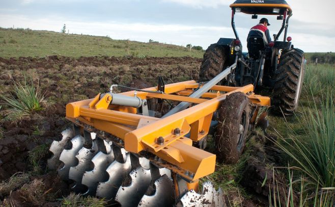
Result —
[[[228, 65], [237, 62], [237, 67], [228, 79], [228, 85], [244, 86], [254, 84], [255, 87], [274, 85], [274, 73], [277, 70], [278, 59], [282, 49], [292, 47], [291, 38], [287, 38], [289, 19], [292, 16], [291, 7], [283, 0], [237, 0], [230, 5], [232, 8], [231, 25], [235, 38], [220, 38], [217, 44], [230, 48]], [[248, 53], [242, 53], [242, 44], [235, 27], [235, 14], [237, 12], [251, 14], [253, 19], [258, 15], [277, 15], [278, 20], [283, 20], [282, 27], [273, 35], [273, 42], [265, 44], [263, 38], [249, 38], [247, 43]], [[278, 38], [284, 31], [283, 41]]]

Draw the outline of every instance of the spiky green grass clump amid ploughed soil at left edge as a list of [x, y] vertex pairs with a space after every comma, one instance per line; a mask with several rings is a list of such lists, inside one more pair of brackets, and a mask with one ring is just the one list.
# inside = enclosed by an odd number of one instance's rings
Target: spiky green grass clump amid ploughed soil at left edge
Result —
[[0, 98], [9, 107], [8, 114], [11, 117], [22, 117], [43, 110], [44, 94], [38, 86], [35, 88], [32, 79], [28, 83], [25, 77], [22, 83], [14, 82], [13, 91], [0, 94]]

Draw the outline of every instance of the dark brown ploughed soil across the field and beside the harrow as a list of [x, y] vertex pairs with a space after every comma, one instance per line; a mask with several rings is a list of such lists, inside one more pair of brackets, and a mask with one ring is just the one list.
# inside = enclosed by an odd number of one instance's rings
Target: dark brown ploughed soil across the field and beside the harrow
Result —
[[[14, 82], [22, 82], [25, 77], [27, 82], [32, 79], [35, 86], [39, 86], [38, 90], [46, 99], [45, 110], [15, 121], [6, 119], [7, 108], [3, 105], [0, 111], [0, 131], [4, 132], [4, 138], [0, 139], [0, 182], [17, 172], [34, 170], [33, 165], [28, 161], [29, 151], [41, 144], [50, 145], [52, 140], [61, 138], [61, 132], [70, 125], [64, 119], [65, 105], [68, 102], [92, 98], [99, 92], [107, 91], [112, 84], [137, 88], [155, 86], [158, 75], [162, 76], [166, 84], [198, 80], [201, 61], [190, 57], [0, 58], [0, 93], [9, 93]], [[5, 199], [5, 204], [16, 206], [54, 206], [59, 204], [55, 198], [62, 198], [69, 194], [71, 183], [60, 180], [55, 172], [46, 171], [48, 156], [48, 154], [43, 155], [38, 162], [39, 167], [45, 172], [44, 175], [30, 176], [30, 182], [24, 184], [24, 188], [13, 189], [10, 195], [2, 197], [0, 192], [0, 205]], [[248, 182], [242, 180], [241, 184], [250, 191], [256, 192], [256, 197], [265, 198], [267, 192], [264, 192], [264, 189], [271, 184], [272, 173], [267, 175], [269, 183], [267, 182], [264, 188], [259, 189], [259, 182], [263, 182], [264, 173], [267, 173], [263, 172], [262, 169], [265, 169], [263, 165], [250, 162], [245, 170]], [[41, 194], [38, 189], [30, 193], [24, 191], [34, 186], [39, 186], [41, 192], [47, 193]], [[53, 197], [49, 196], [51, 194]], [[36, 197], [40, 199], [36, 200]], [[250, 199], [245, 201], [245, 205], [253, 206], [255, 203], [266, 202], [268, 201], [254, 202]]]

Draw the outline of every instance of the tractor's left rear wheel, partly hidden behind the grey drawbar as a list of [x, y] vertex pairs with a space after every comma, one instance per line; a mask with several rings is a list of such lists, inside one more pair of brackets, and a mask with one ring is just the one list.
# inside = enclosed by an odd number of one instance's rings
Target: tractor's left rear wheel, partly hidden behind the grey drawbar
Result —
[[228, 57], [227, 49], [224, 45], [211, 44], [204, 54], [199, 72], [199, 80], [201, 82], [212, 80], [222, 72], [222, 69], [228, 66]]

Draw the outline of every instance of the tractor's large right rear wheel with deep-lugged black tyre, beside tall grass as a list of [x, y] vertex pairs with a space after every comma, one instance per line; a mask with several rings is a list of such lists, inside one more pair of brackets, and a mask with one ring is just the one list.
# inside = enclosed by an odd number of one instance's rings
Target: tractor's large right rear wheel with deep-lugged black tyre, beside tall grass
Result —
[[296, 48], [283, 50], [272, 92], [275, 114], [292, 116], [298, 108], [305, 73], [304, 61], [302, 50]]

